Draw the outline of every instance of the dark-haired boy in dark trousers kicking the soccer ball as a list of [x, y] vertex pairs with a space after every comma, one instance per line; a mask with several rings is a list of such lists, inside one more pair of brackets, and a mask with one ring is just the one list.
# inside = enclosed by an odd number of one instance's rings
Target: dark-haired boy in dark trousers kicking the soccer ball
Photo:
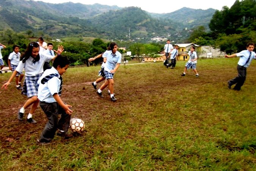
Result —
[[[47, 69], [38, 80], [39, 104], [48, 118], [44, 130], [37, 140], [39, 144], [52, 141], [57, 129], [59, 129], [57, 135], [66, 138], [72, 137], [72, 134], [67, 133], [72, 113], [71, 105], [65, 104], [60, 98], [62, 89], [61, 75], [66, 72], [68, 67], [68, 58], [57, 56], [53, 62], [53, 67]], [[59, 114], [61, 114], [60, 120], [58, 120]]]

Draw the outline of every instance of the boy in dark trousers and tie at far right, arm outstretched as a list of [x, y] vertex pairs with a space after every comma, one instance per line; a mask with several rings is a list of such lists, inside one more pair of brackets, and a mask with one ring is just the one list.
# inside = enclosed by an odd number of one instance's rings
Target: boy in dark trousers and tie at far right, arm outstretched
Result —
[[250, 65], [252, 59], [256, 59], [256, 54], [253, 52], [254, 49], [254, 43], [248, 43], [246, 46], [247, 50], [243, 50], [239, 53], [235, 53], [232, 55], [225, 55], [226, 58], [232, 58], [235, 56], [239, 56], [240, 59], [237, 63], [237, 77], [231, 79], [228, 81], [228, 88], [230, 89], [232, 85], [236, 84], [233, 88], [234, 90], [239, 91], [245, 82], [246, 78], [246, 69]]

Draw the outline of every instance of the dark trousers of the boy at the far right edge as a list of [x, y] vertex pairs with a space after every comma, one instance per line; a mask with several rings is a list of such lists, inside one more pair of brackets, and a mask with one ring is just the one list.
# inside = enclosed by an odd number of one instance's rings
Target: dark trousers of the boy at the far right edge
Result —
[[237, 77], [233, 78], [232, 80], [229, 80], [228, 83], [230, 86], [236, 84], [234, 89], [240, 90], [243, 83], [245, 82], [246, 67], [237, 65], [237, 72]]

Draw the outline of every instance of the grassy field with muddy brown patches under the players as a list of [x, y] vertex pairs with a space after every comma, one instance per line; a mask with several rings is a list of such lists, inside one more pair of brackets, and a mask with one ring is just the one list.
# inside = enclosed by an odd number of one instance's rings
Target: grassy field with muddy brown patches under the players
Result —
[[48, 146], [36, 144], [47, 122], [41, 108], [37, 124], [17, 120], [27, 98], [13, 81], [0, 90], [0, 170], [256, 170], [256, 61], [234, 91], [227, 81], [237, 75], [237, 61], [199, 60], [198, 78], [191, 70], [181, 77], [185, 61], [175, 69], [162, 62], [120, 66], [116, 102], [91, 85], [100, 66], [69, 68], [62, 98], [86, 131], [55, 136]]

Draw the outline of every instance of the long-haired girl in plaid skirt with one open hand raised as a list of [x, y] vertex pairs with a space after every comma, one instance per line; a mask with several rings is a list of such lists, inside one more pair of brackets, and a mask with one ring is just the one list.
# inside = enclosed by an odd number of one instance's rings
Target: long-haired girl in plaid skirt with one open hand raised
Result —
[[[63, 46], [58, 46], [58, 50], [55, 52], [60, 55], [63, 52]], [[27, 121], [35, 124], [36, 121], [32, 119], [32, 116], [38, 106], [39, 100], [37, 97], [38, 93], [38, 85], [37, 81], [41, 77], [43, 73], [43, 65], [45, 61], [54, 60], [56, 56], [46, 55], [44, 53], [39, 54], [39, 45], [36, 42], [30, 42], [28, 44], [25, 53], [21, 55], [20, 61], [13, 74], [9, 78], [8, 82], [6, 82], [2, 88], [7, 89], [9, 83], [13, 80], [18, 72], [22, 72], [22, 69], [25, 69], [25, 80], [22, 89], [22, 94], [27, 95], [28, 99], [24, 106], [20, 108], [18, 112], [18, 119], [22, 121], [23, 115], [25, 113], [25, 109], [31, 106], [30, 111], [27, 116]]]

